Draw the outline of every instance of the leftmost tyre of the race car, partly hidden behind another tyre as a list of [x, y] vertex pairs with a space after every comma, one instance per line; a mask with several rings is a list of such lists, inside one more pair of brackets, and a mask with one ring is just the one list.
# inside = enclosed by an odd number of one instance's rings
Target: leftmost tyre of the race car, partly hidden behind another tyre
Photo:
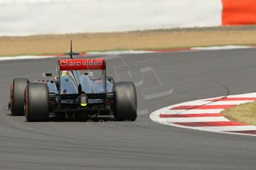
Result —
[[28, 83], [27, 78], [14, 78], [10, 84], [9, 108], [12, 115], [24, 115], [24, 89]]

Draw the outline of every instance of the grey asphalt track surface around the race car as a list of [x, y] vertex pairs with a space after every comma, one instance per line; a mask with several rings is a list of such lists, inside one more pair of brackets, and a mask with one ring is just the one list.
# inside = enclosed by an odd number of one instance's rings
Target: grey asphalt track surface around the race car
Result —
[[[56, 59], [1, 61], [0, 169], [255, 169], [256, 137], [163, 126], [149, 118], [175, 103], [255, 92], [255, 55], [247, 49], [108, 60], [109, 75], [137, 83], [140, 115], [134, 123], [28, 123], [10, 116], [12, 79], [36, 80], [42, 72], [54, 72]], [[123, 61], [128, 66], [114, 69]]]

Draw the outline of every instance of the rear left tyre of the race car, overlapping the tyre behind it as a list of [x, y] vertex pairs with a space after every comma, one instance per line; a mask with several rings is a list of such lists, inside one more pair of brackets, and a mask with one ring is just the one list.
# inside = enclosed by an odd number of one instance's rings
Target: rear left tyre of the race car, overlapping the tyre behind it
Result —
[[47, 84], [27, 84], [25, 89], [25, 118], [29, 122], [48, 120], [49, 94]]

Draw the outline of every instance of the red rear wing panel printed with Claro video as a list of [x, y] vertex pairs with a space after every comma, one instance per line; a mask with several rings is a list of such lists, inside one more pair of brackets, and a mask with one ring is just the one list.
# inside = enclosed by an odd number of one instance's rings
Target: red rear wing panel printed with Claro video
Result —
[[65, 59], [59, 60], [59, 70], [87, 70], [87, 69], [106, 69], [104, 59]]

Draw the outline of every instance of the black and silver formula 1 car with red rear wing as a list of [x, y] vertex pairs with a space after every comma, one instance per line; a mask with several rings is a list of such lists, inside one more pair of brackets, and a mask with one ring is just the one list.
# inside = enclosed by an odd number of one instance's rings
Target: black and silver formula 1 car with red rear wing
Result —
[[[65, 118], [96, 118], [114, 115], [115, 120], [136, 120], [137, 92], [132, 82], [115, 83], [106, 76], [104, 59], [57, 61], [57, 75], [45, 73], [47, 80], [14, 78], [10, 85], [8, 109], [25, 115], [27, 121], [46, 121], [50, 115]], [[94, 72], [100, 72], [95, 77]]]

